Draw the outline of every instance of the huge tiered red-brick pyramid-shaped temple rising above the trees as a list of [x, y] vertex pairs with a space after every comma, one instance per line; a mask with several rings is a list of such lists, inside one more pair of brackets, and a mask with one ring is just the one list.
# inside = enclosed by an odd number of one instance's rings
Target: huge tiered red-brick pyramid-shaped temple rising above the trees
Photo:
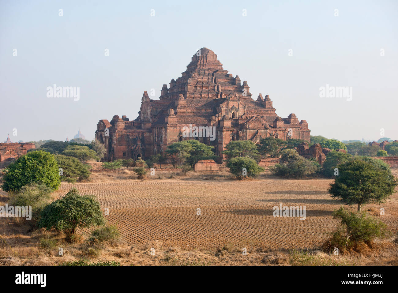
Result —
[[[268, 95], [252, 99], [247, 81], [228, 74], [217, 55], [200, 49], [192, 57], [182, 76], [164, 84], [159, 100], [142, 95], [138, 117], [132, 121], [123, 115], [97, 124], [96, 140], [105, 144], [105, 160], [148, 158], [165, 154], [168, 145], [185, 139], [198, 139], [214, 146], [221, 162], [224, 147], [234, 140], [258, 143], [261, 138], [304, 139], [310, 142], [310, 130], [305, 120], [295, 114], [287, 118], [275, 113]], [[189, 127], [205, 129], [201, 137], [187, 137]], [[215, 137], [208, 129], [214, 127]], [[201, 133], [202, 134], [202, 133]]]

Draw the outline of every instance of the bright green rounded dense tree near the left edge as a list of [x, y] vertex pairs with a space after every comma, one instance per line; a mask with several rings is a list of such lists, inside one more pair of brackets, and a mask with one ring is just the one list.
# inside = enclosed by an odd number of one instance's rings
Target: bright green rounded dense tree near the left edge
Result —
[[3, 176], [4, 191], [21, 189], [30, 183], [45, 184], [52, 190], [61, 182], [54, 156], [44, 150], [35, 150], [11, 163]]

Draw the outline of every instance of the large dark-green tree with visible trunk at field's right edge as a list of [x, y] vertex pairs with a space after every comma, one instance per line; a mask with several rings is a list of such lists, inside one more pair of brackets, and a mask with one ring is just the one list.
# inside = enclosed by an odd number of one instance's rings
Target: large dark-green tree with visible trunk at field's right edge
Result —
[[330, 184], [328, 192], [347, 205], [356, 204], [358, 211], [368, 203], [384, 203], [398, 185], [391, 171], [377, 168], [361, 158], [339, 164], [337, 168], [339, 176]]

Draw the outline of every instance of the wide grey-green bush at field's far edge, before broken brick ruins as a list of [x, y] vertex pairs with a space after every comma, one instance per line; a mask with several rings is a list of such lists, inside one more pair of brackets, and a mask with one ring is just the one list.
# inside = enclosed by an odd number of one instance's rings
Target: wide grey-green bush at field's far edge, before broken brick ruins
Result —
[[269, 167], [269, 170], [272, 174], [285, 178], [312, 177], [320, 168], [317, 162], [307, 160], [291, 149], [281, 151], [280, 163]]

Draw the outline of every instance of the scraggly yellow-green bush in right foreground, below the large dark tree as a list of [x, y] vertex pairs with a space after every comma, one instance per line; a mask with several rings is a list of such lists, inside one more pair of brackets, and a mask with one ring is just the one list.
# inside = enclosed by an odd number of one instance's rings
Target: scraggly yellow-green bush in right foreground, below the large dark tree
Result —
[[334, 232], [330, 242], [324, 244], [324, 248], [329, 252], [334, 247], [337, 247], [339, 252], [344, 252], [350, 248], [355, 249], [359, 242], [369, 245], [374, 238], [381, 238], [387, 234], [387, 225], [367, 215], [365, 211], [353, 213], [340, 207], [332, 213], [332, 216], [335, 219], [341, 219], [342, 226]]

